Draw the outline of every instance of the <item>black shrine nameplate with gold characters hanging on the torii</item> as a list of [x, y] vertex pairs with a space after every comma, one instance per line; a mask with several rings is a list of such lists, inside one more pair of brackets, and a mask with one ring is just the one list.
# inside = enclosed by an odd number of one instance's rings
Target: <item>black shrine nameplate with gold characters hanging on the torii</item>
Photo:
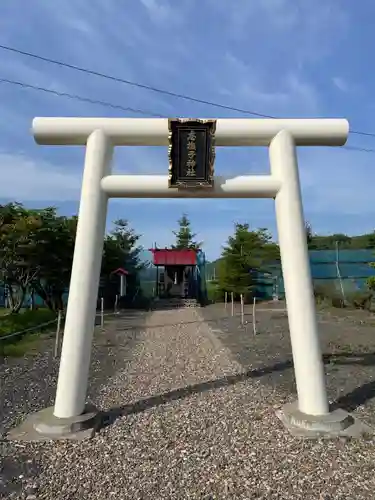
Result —
[[213, 187], [216, 120], [182, 118], [168, 124], [169, 187]]

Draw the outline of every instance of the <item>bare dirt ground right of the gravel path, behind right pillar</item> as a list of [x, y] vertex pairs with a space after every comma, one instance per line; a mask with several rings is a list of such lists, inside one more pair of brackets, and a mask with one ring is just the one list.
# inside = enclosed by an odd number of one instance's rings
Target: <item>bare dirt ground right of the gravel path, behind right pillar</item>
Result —
[[[260, 304], [256, 309], [254, 337], [252, 306], [245, 306], [241, 326], [240, 306], [223, 304], [202, 309], [204, 318], [217, 324], [216, 335], [230, 348], [245, 369], [263, 372], [263, 384], [296, 394], [288, 318], [284, 302]], [[319, 309], [318, 324], [332, 407], [353, 412], [375, 425], [375, 315], [367, 311]], [[303, 334], [303, 332], [301, 332]]]

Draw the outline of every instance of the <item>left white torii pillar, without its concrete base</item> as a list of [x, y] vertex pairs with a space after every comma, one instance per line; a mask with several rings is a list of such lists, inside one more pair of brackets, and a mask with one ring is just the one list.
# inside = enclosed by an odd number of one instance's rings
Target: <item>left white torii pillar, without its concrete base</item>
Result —
[[85, 408], [107, 217], [100, 181], [109, 174], [112, 150], [101, 130], [88, 137], [54, 408], [60, 418], [78, 416]]

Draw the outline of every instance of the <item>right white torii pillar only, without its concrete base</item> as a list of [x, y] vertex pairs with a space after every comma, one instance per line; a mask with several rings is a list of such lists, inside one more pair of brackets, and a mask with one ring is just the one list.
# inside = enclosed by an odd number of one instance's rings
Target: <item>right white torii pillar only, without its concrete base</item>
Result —
[[275, 199], [276, 222], [298, 407], [308, 415], [324, 415], [328, 413], [328, 398], [319, 345], [297, 153], [291, 134], [286, 130], [279, 132], [271, 142], [269, 154], [271, 174], [281, 181], [281, 189]]

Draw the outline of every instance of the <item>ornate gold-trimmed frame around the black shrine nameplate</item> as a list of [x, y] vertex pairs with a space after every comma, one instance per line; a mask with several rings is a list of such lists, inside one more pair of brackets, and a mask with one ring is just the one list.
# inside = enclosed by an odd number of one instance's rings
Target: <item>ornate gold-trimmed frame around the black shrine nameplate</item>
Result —
[[[173, 181], [173, 123], [201, 123], [204, 125], [210, 125], [208, 128], [210, 136], [210, 152], [208, 161], [208, 179], [207, 181], [196, 181], [186, 182], [186, 181]], [[216, 123], [217, 120], [211, 119], [201, 119], [201, 118], [169, 118], [168, 119], [168, 186], [170, 188], [184, 188], [184, 189], [197, 189], [197, 188], [212, 188], [214, 186], [214, 172], [215, 172], [215, 134], [216, 134]], [[193, 127], [192, 127], [193, 128]]]

